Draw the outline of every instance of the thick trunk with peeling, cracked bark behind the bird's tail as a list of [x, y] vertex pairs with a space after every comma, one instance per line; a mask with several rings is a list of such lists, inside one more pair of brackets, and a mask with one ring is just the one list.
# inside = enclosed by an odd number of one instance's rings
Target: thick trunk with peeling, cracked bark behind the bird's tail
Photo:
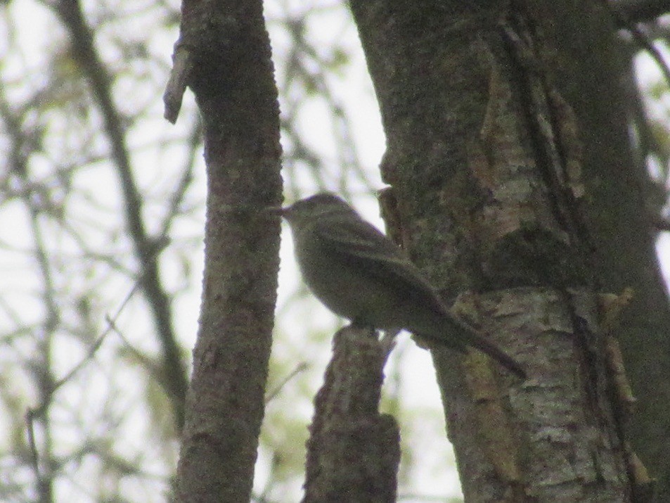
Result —
[[[629, 500], [626, 418], [599, 294], [603, 286], [648, 288], [662, 311], [653, 329], [667, 308], [641, 201], [621, 182], [632, 169], [626, 122], [607, 115], [619, 100], [591, 103], [584, 79], [563, 78], [584, 70], [575, 46], [581, 59], [612, 57], [604, 5], [350, 4], [387, 134], [382, 174], [395, 234], [444, 297], [460, 294], [463, 316], [532, 376], [518, 385], [479, 355], [463, 367], [456, 355], [434, 352], [466, 500]], [[618, 74], [607, 68], [598, 80], [588, 75], [613, 88]], [[566, 98], [555, 79], [582, 98]], [[618, 190], [605, 196], [603, 185]], [[621, 265], [610, 246], [617, 218], [636, 223], [619, 243], [636, 265]], [[628, 270], [614, 289], [622, 268], [642, 270], [634, 280]], [[649, 321], [636, 323], [629, 340], [639, 344]]]

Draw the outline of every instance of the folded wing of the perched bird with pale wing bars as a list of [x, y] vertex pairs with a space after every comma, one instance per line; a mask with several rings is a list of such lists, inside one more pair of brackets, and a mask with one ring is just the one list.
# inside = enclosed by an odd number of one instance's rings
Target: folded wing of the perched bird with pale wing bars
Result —
[[343, 261], [359, 264], [359, 270], [364, 274], [392, 282], [396, 288], [420, 295], [426, 303], [434, 303], [435, 309], [444, 310], [444, 305], [418, 268], [372, 224], [364, 220], [359, 220], [356, 225], [337, 226], [318, 222], [314, 231]]

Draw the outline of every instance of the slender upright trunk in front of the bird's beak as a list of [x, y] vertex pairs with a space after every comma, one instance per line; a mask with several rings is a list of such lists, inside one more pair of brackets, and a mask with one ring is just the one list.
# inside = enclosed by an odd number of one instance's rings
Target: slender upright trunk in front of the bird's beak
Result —
[[205, 131], [200, 332], [178, 471], [183, 502], [249, 501], [271, 345], [281, 201], [279, 120], [262, 2], [182, 7], [177, 51]]

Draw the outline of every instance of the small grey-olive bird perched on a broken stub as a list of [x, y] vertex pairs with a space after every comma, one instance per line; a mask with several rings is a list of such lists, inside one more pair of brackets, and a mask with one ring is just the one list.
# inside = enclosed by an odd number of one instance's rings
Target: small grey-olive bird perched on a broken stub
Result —
[[520, 378], [524, 368], [451, 313], [437, 291], [385, 234], [334, 193], [281, 208], [305, 284], [354, 326], [406, 329], [430, 346], [475, 348]]

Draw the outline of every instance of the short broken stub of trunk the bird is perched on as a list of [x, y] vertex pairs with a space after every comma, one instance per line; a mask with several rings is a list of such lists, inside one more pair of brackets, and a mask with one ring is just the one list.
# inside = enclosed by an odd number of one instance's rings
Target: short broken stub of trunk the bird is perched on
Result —
[[388, 352], [368, 330], [335, 334], [309, 428], [305, 503], [396, 500], [399, 429], [379, 414]]

